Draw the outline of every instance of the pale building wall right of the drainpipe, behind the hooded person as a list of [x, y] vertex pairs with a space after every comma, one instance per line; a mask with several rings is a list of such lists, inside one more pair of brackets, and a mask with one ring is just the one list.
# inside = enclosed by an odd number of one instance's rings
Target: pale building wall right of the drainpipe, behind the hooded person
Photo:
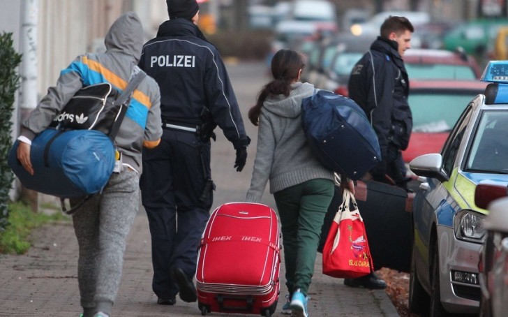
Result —
[[[10, 2], [9, 0], [0, 0]], [[12, 1], [12, 0], [11, 0]], [[17, 1], [14, 1], [17, 2]], [[104, 50], [104, 36], [114, 20], [134, 10], [148, 40], [167, 18], [165, 0], [39, 0], [38, 94], [57, 81], [61, 69], [78, 54]]]

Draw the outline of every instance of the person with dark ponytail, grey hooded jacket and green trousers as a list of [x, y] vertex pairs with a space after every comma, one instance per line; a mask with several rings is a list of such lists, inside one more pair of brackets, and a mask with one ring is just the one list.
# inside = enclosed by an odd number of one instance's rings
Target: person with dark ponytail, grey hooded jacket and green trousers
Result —
[[[301, 126], [301, 100], [312, 84], [300, 82], [304, 61], [279, 50], [271, 61], [274, 80], [260, 91], [248, 118], [257, 131], [257, 151], [247, 202], [260, 202], [267, 182], [281, 219], [286, 286], [283, 313], [308, 316], [307, 295], [314, 272], [321, 226], [334, 196], [334, 172], [311, 151]], [[354, 190], [352, 182], [343, 182]]]

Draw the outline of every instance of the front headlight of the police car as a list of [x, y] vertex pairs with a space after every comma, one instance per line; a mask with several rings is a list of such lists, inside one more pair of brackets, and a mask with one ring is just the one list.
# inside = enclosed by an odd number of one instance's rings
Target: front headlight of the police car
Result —
[[457, 239], [481, 243], [485, 237], [485, 215], [471, 210], [462, 210], [454, 217], [454, 230]]

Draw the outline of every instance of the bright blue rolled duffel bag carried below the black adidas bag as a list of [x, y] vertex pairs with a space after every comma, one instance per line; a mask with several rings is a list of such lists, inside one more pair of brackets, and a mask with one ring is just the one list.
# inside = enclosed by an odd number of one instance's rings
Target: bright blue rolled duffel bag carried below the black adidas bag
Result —
[[95, 130], [61, 131], [47, 128], [33, 139], [33, 175], [17, 160], [16, 140], [8, 165], [23, 186], [60, 198], [89, 196], [102, 191], [114, 169], [115, 148], [110, 137]]

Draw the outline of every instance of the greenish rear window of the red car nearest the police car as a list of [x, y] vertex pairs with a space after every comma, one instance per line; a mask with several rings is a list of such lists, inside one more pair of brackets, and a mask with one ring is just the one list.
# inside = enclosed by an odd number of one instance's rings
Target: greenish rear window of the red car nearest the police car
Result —
[[409, 106], [413, 118], [413, 132], [438, 133], [451, 131], [464, 108], [475, 94], [410, 91]]

